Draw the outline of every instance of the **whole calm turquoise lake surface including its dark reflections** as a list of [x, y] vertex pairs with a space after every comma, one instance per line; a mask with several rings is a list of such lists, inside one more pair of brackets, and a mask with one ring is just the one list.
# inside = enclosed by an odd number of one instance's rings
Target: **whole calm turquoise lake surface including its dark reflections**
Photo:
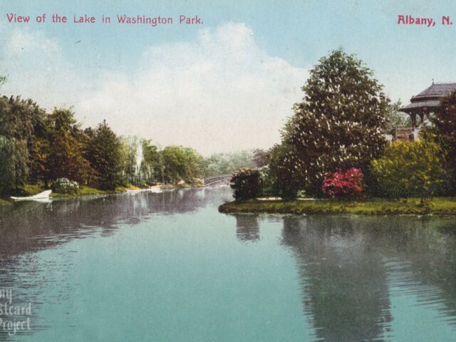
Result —
[[[456, 222], [219, 214], [227, 187], [1, 212], [4, 341], [456, 341]], [[3, 294], [2, 294], [3, 291]], [[4, 304], [2, 304], [4, 305]]]

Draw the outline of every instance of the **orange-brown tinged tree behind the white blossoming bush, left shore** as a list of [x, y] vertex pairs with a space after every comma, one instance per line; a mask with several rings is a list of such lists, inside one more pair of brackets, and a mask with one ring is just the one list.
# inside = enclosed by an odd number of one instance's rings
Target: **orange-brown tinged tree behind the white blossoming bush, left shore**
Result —
[[48, 115], [47, 121], [46, 181], [68, 178], [85, 184], [90, 164], [84, 156], [85, 137], [73, 110], [56, 108]]

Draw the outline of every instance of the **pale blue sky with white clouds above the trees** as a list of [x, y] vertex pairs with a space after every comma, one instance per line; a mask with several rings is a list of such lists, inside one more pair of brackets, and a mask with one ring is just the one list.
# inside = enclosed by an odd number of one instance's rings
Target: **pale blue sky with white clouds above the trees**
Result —
[[[408, 103], [432, 79], [456, 81], [456, 20], [440, 24], [456, 19], [452, 2], [1, 0], [0, 93], [203, 155], [269, 148], [311, 68], [336, 48], [356, 53], [393, 101]], [[52, 14], [68, 22], [52, 23]], [[73, 23], [85, 14], [95, 24]], [[173, 24], [118, 24], [123, 14]], [[179, 24], [180, 15], [202, 24]], [[398, 15], [437, 25], [397, 24]]]

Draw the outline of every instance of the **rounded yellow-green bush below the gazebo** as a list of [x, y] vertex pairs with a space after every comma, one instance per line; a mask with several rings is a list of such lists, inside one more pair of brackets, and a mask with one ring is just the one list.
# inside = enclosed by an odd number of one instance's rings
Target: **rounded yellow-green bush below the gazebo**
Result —
[[383, 195], [431, 197], [444, 192], [450, 179], [443, 155], [435, 142], [398, 140], [385, 147], [382, 157], [373, 160], [373, 175]]

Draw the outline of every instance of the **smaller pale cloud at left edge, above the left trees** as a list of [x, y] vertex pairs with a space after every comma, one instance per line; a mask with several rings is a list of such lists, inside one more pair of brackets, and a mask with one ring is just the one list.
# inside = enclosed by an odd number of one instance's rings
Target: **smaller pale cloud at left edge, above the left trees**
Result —
[[3, 26], [0, 33], [0, 74], [8, 76], [1, 93], [32, 98], [48, 110], [81, 100], [84, 83], [58, 41], [27, 28], [7, 31]]

